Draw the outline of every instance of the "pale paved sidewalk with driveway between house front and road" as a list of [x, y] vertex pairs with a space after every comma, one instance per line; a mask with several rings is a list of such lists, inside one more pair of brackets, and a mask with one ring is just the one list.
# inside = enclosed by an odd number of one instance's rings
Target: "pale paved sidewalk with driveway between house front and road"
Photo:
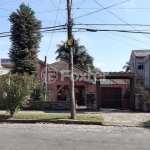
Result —
[[[0, 111], [5, 114], [6, 111]], [[27, 114], [70, 114], [70, 111], [20, 111]], [[150, 113], [131, 112], [129, 110], [102, 109], [101, 111], [77, 110], [77, 115], [100, 115], [104, 118], [103, 125], [113, 126], [150, 126]], [[62, 119], [61, 119], [62, 120]], [[70, 119], [66, 121], [69, 123]], [[72, 123], [73, 120], [71, 120]], [[77, 121], [75, 121], [77, 123]]]

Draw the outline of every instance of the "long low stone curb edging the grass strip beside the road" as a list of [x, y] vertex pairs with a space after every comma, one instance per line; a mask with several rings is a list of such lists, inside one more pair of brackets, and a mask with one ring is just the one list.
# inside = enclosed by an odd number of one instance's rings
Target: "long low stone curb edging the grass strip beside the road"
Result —
[[83, 124], [83, 125], [103, 125], [102, 122], [98, 121], [80, 121], [71, 119], [58, 119], [58, 120], [23, 120], [23, 119], [1, 119], [2, 123], [56, 123], [56, 124]]

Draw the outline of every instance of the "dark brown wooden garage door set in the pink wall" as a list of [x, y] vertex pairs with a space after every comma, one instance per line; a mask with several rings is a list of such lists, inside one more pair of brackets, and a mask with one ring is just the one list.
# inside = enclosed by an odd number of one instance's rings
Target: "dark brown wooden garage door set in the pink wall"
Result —
[[121, 108], [121, 88], [101, 88], [102, 108]]

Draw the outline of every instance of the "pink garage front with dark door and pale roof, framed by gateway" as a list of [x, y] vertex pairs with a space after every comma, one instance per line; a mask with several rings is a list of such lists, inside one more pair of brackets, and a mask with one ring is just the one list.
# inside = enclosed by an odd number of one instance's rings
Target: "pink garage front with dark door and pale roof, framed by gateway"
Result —
[[101, 80], [101, 107], [129, 109], [130, 82], [127, 79]]

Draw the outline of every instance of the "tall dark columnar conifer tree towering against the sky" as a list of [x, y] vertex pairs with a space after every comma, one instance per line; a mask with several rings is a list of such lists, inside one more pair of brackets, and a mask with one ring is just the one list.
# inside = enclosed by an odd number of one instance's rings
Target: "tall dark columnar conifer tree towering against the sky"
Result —
[[17, 12], [12, 12], [9, 21], [12, 35], [9, 56], [14, 63], [13, 72], [37, 74], [41, 21], [36, 19], [34, 11], [24, 3]]

